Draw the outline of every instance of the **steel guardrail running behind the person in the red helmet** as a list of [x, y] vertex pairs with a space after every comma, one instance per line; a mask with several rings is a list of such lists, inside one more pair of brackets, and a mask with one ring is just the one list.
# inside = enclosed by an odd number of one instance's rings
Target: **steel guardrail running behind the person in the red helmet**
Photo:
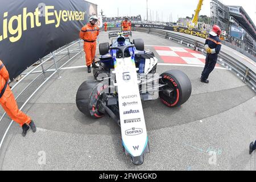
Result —
[[[157, 35], [164, 39], [170, 39], [175, 40], [176, 42], [180, 44], [185, 44], [188, 47], [191, 47], [195, 50], [201, 51], [204, 55], [207, 54], [207, 52], [204, 49], [204, 42], [198, 41], [192, 38], [189, 38], [188, 36], [184, 35], [178, 35], [169, 31], [165, 30], [158, 30], [155, 28], [138, 28], [133, 27], [134, 31], [141, 31], [146, 32], [147, 34]], [[247, 63], [244, 60], [239, 60], [236, 57], [232, 57], [228, 55], [228, 53], [225, 53], [224, 51], [221, 51], [218, 56], [218, 63], [222, 66], [228, 68], [230, 71], [235, 73], [243, 82], [245, 82], [247, 85], [250, 86], [251, 89], [256, 92], [256, 67], [255, 64]]]

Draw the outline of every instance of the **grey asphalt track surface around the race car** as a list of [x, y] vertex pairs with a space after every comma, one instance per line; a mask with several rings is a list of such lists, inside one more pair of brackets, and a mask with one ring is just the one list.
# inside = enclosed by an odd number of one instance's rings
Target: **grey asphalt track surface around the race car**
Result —
[[[184, 47], [176, 42], [133, 32], [146, 45]], [[105, 32], [100, 42], [107, 42]], [[154, 47], [159, 63], [163, 63]], [[255, 92], [227, 69], [214, 69], [210, 84], [199, 81], [202, 67], [159, 65], [158, 73], [180, 69], [192, 82], [192, 96], [181, 107], [170, 109], [160, 100], [143, 102], [149, 154], [142, 166], [134, 166], [122, 150], [120, 128], [108, 116], [94, 120], [75, 104], [80, 84], [93, 79], [86, 68], [84, 53], [53, 76], [24, 107], [38, 131], [26, 138], [16, 123], [11, 126], [0, 151], [1, 170], [255, 170], [249, 144], [256, 139]], [[32, 75], [24, 80], [31, 81]], [[42, 78], [43, 80], [43, 78]], [[21, 106], [37, 88], [31, 86], [19, 98]], [[22, 90], [22, 84], [14, 94]], [[1, 110], [2, 113], [2, 110]], [[2, 125], [8, 125], [5, 118]], [[0, 129], [3, 133], [4, 127]], [[214, 151], [214, 152], [210, 152]], [[41, 156], [46, 154], [46, 163]], [[41, 162], [41, 163], [40, 163]]]

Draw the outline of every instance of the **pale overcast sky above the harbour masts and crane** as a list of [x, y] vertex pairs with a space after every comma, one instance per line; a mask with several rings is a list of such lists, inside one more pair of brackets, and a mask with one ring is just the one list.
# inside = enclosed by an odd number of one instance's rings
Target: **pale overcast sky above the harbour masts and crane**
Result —
[[[98, 12], [101, 9], [106, 16], [117, 16], [119, 9], [119, 16], [136, 16], [141, 14], [142, 19], [147, 16], [146, 0], [88, 0], [89, 2], [96, 3], [98, 5]], [[126, 3], [125, 3], [126, 2]], [[172, 20], [176, 21], [179, 16], [185, 18], [185, 16], [192, 16], [196, 9], [199, 0], [148, 0], [148, 18], [153, 16], [156, 19], [156, 11], [158, 11], [159, 19], [169, 21], [170, 15]], [[200, 11], [200, 15], [210, 16], [210, 2], [211, 0], [204, 0], [204, 5]], [[225, 5], [238, 5], [245, 9], [250, 18], [256, 25], [256, 0], [221, 0]]]

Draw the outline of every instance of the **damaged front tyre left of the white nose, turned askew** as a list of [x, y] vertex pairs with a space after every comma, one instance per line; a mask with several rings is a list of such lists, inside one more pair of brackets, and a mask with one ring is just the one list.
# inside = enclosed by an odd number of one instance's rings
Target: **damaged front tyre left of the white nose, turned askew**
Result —
[[107, 88], [104, 82], [93, 80], [83, 82], [76, 94], [76, 106], [81, 113], [94, 119], [103, 117], [104, 113], [100, 112], [100, 99]]

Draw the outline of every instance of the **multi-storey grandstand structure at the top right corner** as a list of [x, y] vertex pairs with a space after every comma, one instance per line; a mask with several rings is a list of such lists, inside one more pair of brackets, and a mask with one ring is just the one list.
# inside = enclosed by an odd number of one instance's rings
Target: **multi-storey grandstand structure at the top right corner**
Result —
[[[227, 6], [212, 0], [210, 11], [211, 24], [217, 24], [227, 32], [226, 40], [256, 56], [256, 27], [242, 6]], [[233, 36], [232, 30], [237, 30], [241, 36]]]

